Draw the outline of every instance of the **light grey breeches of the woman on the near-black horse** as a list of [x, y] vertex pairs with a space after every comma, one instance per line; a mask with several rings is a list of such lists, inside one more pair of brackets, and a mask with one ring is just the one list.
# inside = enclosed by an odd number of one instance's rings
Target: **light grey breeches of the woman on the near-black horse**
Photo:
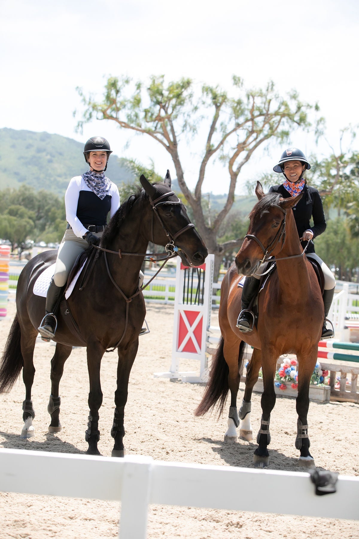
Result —
[[[103, 232], [96, 232], [101, 238]], [[86, 251], [88, 243], [86, 239], [78, 238], [72, 229], [67, 229], [61, 240], [58, 258], [56, 260], [54, 283], [56, 286], [65, 286], [68, 274], [79, 254]]]

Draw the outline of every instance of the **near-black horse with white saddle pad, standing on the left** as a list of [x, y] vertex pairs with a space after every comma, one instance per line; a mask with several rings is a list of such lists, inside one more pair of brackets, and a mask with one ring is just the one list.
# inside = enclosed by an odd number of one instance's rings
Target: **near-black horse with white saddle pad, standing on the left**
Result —
[[[112, 456], [122, 457], [124, 454], [124, 407], [128, 396], [130, 371], [137, 354], [138, 336], [146, 313], [142, 292], [135, 294], [138, 291], [139, 271], [149, 241], [166, 246], [170, 254], [178, 249], [178, 254], [186, 266], [202, 264], [208, 254], [205, 244], [187, 216], [185, 206], [171, 191], [169, 174], [167, 173], [165, 183], [151, 185], [144, 176], [140, 178], [140, 182], [144, 189], [130, 196], [121, 205], [103, 233], [100, 244], [102, 250], [98, 250], [97, 260], [86, 286], [79, 289], [83, 281], [81, 274], [67, 300], [68, 309], [78, 324], [87, 348], [90, 413], [86, 440], [89, 454], [100, 454], [97, 443], [100, 438], [98, 410], [102, 404], [101, 359], [105, 350], [117, 345], [116, 408], [111, 429], [115, 443]], [[16, 291], [17, 314], [0, 367], [0, 392], [10, 390], [23, 369], [26, 396], [23, 404], [25, 426], [22, 436], [25, 438], [33, 436], [33, 350], [37, 328], [45, 312], [45, 298], [34, 295], [33, 286], [39, 274], [53, 264], [56, 257], [56, 251], [41, 253], [26, 264], [20, 274]], [[131, 301], [124, 298], [126, 296], [129, 299], [133, 295], [135, 297]], [[51, 360], [51, 396], [47, 407], [51, 414], [49, 432], [61, 430], [59, 383], [65, 361], [73, 346], [84, 345], [71, 333], [62, 316], [63, 313], [58, 316], [58, 328], [54, 337], [57, 345]], [[118, 344], [121, 338], [122, 341]]]

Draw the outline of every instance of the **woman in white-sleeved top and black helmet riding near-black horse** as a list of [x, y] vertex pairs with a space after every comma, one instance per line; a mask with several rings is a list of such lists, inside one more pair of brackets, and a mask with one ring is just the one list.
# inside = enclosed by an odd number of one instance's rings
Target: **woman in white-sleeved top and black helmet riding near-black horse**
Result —
[[105, 175], [110, 145], [103, 137], [89, 139], [83, 151], [90, 170], [71, 179], [65, 194], [67, 227], [56, 260], [54, 277], [46, 295], [45, 317], [38, 328], [41, 337], [49, 341], [55, 333], [56, 311], [76, 258], [89, 245], [98, 245], [107, 215], [119, 208], [117, 185]]

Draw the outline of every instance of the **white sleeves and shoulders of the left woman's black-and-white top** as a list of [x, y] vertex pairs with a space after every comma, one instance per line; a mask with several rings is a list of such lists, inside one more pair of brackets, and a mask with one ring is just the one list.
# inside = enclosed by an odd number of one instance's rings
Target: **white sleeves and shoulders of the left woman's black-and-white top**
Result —
[[[76, 216], [80, 191], [92, 192], [85, 181], [83, 181], [82, 176], [74, 176], [71, 178], [65, 193], [66, 219], [76, 236], [82, 238], [82, 236], [85, 236], [87, 228], [83, 226], [83, 223], [81, 223], [80, 219]], [[113, 182], [111, 182], [108, 195], [111, 197], [110, 217], [112, 217], [119, 208], [119, 192], [117, 185]], [[96, 220], [96, 216], [93, 216], [93, 218]]]

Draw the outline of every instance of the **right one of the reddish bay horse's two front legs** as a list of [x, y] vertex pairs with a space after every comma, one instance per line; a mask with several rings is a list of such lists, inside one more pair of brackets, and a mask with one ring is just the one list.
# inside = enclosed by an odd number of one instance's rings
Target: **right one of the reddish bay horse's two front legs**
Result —
[[309, 409], [309, 384], [315, 368], [318, 357], [318, 347], [315, 346], [308, 355], [298, 354], [298, 397], [296, 409], [298, 413], [297, 420], [297, 438], [295, 438], [295, 448], [299, 449], [299, 466], [306, 468], [315, 468], [314, 459], [309, 453], [311, 442], [308, 437], [307, 414]]

